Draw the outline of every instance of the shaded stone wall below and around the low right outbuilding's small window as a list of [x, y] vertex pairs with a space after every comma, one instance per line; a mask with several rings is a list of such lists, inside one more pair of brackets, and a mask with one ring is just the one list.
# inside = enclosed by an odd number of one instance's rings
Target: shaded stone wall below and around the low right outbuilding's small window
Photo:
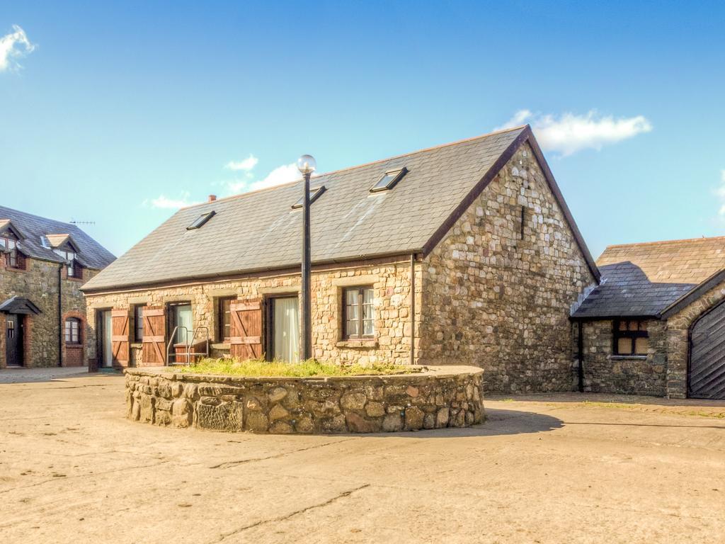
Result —
[[[577, 325], [573, 324], [576, 354]], [[667, 392], [667, 323], [647, 321], [647, 355], [613, 355], [614, 323], [584, 322], [584, 390], [595, 393], [664, 396]], [[577, 361], [575, 361], [576, 363]]]

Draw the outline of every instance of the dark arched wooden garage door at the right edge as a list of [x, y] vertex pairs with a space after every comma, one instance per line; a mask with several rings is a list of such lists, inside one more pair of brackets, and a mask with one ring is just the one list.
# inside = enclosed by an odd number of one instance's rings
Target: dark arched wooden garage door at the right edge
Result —
[[725, 304], [698, 319], [690, 331], [689, 396], [725, 399]]

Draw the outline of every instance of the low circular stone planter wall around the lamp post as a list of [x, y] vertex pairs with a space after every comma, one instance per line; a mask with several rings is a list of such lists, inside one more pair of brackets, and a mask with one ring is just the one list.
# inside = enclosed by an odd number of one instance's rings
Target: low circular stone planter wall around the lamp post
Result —
[[416, 374], [246, 378], [125, 370], [127, 416], [161, 426], [230, 432], [395, 432], [484, 419], [481, 368]]

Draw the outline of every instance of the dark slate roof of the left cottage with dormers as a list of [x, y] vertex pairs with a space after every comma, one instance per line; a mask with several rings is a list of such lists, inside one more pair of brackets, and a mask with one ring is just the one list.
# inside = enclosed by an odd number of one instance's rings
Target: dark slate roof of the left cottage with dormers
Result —
[[28, 257], [65, 263], [51, 247], [43, 247], [42, 242], [43, 236], [65, 234], [72, 237], [73, 244], [78, 247], [78, 261], [86, 268], [101, 270], [115, 259], [111, 252], [72, 223], [54, 221], [0, 206], [0, 228], [7, 226], [5, 221], [9, 221], [22, 235], [18, 247]]

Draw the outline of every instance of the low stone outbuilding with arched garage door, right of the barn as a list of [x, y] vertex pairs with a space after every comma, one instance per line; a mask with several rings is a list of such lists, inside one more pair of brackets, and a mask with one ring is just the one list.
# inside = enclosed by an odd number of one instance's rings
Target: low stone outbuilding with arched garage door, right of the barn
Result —
[[608, 247], [573, 312], [582, 390], [725, 398], [725, 238]]

